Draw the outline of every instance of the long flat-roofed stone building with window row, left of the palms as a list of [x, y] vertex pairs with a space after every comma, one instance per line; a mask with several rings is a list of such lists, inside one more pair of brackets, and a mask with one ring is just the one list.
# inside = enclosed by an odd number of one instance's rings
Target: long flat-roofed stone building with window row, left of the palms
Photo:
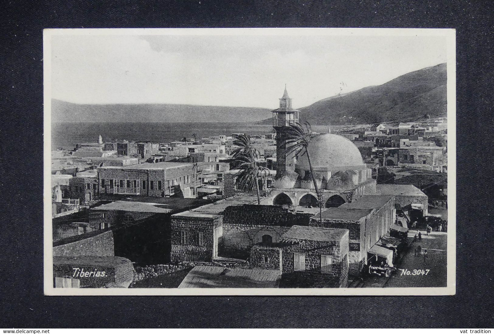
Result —
[[197, 163], [158, 162], [98, 168], [107, 194], [195, 198], [201, 186]]

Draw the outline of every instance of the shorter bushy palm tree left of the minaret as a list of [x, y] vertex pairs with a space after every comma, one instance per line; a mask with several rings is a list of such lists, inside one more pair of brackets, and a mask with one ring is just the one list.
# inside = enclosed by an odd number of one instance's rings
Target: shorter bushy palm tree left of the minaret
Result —
[[247, 191], [252, 190], [253, 185], [255, 185], [257, 204], [261, 204], [258, 175], [262, 168], [257, 165], [259, 151], [250, 143], [250, 139], [246, 135], [239, 135], [233, 144], [238, 146], [232, 153], [235, 159], [235, 168], [240, 169], [236, 175], [236, 184], [240, 186], [241, 190]]

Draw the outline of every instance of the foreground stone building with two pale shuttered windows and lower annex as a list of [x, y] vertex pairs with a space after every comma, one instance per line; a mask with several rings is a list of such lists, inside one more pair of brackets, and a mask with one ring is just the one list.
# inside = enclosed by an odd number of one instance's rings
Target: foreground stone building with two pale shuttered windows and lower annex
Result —
[[281, 286], [346, 287], [348, 236], [346, 229], [294, 225], [279, 242], [254, 245], [250, 263], [282, 270]]

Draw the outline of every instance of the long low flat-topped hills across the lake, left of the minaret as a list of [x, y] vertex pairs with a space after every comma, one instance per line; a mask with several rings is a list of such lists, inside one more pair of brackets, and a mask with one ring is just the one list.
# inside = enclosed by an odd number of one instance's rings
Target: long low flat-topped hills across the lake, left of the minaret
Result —
[[76, 104], [51, 100], [52, 122], [251, 122], [271, 110], [187, 104]]

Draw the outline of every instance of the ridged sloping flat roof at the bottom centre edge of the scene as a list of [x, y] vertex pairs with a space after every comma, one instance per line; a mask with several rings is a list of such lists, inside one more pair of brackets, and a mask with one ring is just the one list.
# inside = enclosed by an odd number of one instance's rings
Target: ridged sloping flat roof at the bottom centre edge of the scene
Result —
[[278, 287], [281, 275], [281, 270], [195, 266], [178, 287]]

